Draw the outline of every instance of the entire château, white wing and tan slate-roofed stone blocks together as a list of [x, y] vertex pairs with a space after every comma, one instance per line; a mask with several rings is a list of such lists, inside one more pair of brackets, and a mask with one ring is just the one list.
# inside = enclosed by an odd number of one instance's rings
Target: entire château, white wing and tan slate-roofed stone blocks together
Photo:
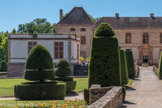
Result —
[[[109, 23], [113, 27], [119, 45], [122, 49], [131, 49], [139, 65], [158, 65], [162, 51], [162, 17], [156, 17], [153, 13], [149, 17], [120, 17], [116, 13], [114, 17], [102, 17], [95, 23], [82, 7], [74, 7], [66, 16], [60, 9], [60, 21], [56, 24], [55, 35], [9, 36], [8, 76], [22, 76], [28, 51], [37, 43], [42, 43], [50, 50], [54, 62], [65, 58], [71, 64], [77, 64], [79, 56], [90, 56], [92, 38], [101, 23]], [[58, 43], [58, 47], [63, 46], [62, 52], [55, 50], [54, 42], [63, 43]], [[56, 53], [59, 55], [56, 56]]]

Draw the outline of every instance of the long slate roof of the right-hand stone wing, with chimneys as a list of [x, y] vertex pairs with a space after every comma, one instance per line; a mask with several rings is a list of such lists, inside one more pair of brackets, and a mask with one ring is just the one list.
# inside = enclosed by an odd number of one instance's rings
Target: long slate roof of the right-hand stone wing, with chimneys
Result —
[[103, 22], [113, 29], [162, 29], [162, 17], [102, 17], [96, 27]]

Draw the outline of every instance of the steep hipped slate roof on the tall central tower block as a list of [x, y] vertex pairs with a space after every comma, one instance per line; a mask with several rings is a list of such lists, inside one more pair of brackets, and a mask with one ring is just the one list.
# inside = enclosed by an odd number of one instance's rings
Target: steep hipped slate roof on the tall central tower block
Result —
[[94, 22], [82, 7], [74, 7], [58, 25], [94, 25]]

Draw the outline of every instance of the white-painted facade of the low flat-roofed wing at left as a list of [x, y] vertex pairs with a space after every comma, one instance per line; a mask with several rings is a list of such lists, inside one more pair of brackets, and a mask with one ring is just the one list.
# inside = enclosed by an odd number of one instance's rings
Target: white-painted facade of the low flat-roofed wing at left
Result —
[[37, 42], [37, 44], [45, 46], [49, 50], [54, 64], [60, 60], [55, 58], [54, 43], [63, 42], [63, 58], [67, 59], [72, 65], [78, 63], [79, 56], [77, 55], [77, 45], [80, 46], [80, 38], [75, 35], [39, 34], [34, 37], [32, 35], [16, 34], [10, 35], [8, 38], [9, 73], [12, 73], [13, 68], [10, 69], [10, 67], [13, 67], [14, 64], [25, 64], [28, 56], [28, 42]]

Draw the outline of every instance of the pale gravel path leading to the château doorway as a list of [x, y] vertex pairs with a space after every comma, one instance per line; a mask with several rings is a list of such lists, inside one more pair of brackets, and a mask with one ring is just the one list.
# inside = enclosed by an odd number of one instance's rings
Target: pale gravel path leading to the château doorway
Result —
[[153, 67], [140, 67], [140, 77], [127, 90], [122, 108], [162, 108], [162, 80]]

